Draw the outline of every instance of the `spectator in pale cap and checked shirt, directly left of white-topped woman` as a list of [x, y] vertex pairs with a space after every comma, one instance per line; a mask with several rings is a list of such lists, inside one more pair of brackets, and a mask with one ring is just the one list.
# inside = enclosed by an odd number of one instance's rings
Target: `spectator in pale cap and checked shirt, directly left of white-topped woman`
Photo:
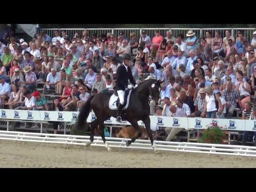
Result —
[[202, 112], [204, 111], [204, 101], [205, 101], [206, 92], [204, 88], [199, 90], [199, 95], [196, 96], [194, 102], [195, 112], [191, 114], [190, 117], [205, 117]]

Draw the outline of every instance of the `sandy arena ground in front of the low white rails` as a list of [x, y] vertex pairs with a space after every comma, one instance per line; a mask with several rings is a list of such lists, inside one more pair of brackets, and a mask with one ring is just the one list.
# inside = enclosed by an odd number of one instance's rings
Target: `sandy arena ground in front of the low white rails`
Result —
[[256, 158], [0, 140], [0, 168], [255, 168]]

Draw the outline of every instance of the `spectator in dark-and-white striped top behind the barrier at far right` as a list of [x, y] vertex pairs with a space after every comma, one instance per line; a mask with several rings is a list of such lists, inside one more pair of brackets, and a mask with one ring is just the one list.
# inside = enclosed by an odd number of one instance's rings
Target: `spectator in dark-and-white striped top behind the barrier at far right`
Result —
[[[247, 101], [244, 104], [244, 110], [243, 110], [243, 115], [242, 115], [242, 119], [248, 120], [248, 119], [252, 119], [251, 117], [254, 117], [254, 115], [256, 110], [252, 110], [252, 103], [250, 101]], [[253, 118], [254, 119], [254, 118]], [[250, 132], [250, 131], [244, 131], [243, 134], [243, 138], [242, 138], [242, 145], [246, 145], [247, 139], [248, 139], [248, 134], [250, 133], [254, 133], [254, 132]], [[254, 134], [255, 137], [255, 134]]]

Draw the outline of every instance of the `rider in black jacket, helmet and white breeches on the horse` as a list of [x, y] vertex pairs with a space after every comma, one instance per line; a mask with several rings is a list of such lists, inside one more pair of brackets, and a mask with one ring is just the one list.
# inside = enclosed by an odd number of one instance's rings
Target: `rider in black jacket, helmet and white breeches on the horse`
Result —
[[131, 84], [133, 84], [135, 87], [138, 85], [135, 83], [134, 78], [132, 76], [132, 70], [128, 66], [129, 62], [132, 60], [131, 56], [129, 54], [123, 54], [123, 63], [121, 66], [118, 67], [116, 74], [117, 74], [117, 82], [116, 82], [116, 90], [118, 93], [118, 97], [120, 99], [118, 109], [117, 109], [117, 118], [116, 122], [121, 123], [121, 113], [122, 108], [124, 105], [124, 91], [125, 88], [131, 89], [132, 85], [128, 84], [128, 79], [130, 80]]

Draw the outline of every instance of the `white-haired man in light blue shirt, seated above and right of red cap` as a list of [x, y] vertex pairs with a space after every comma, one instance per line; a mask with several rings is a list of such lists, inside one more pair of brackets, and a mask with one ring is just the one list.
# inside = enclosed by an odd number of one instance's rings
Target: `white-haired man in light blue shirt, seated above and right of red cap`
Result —
[[58, 80], [60, 79], [60, 73], [56, 71], [56, 68], [52, 68], [51, 72], [47, 75], [46, 84], [44, 85], [43, 94], [47, 94], [47, 90], [57, 90]]

